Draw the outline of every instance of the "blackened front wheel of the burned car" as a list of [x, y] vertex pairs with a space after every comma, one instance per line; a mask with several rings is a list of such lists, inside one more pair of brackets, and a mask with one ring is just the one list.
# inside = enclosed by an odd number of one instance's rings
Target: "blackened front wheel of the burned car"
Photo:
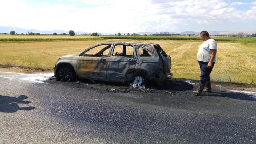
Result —
[[58, 80], [62, 82], [72, 82], [75, 80], [75, 72], [71, 66], [63, 66], [58, 71]]

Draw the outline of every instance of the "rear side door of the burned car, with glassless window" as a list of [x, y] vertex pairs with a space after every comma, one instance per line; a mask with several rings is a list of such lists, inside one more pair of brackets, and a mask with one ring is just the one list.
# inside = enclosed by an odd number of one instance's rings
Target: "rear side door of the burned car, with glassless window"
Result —
[[136, 53], [133, 45], [114, 44], [107, 58], [108, 81], [124, 82], [128, 71], [135, 69]]

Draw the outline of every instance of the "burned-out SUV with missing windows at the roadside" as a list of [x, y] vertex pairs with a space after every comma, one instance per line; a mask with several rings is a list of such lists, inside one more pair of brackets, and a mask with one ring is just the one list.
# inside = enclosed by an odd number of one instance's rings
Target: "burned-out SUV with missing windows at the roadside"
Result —
[[163, 83], [172, 77], [171, 57], [159, 44], [104, 42], [75, 55], [58, 59], [54, 74], [57, 80], [77, 78], [140, 84], [146, 81]]

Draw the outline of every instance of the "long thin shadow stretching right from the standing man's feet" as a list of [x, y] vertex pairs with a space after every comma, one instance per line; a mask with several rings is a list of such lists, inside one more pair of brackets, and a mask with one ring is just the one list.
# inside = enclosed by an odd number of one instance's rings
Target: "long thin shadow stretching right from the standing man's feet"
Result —
[[232, 99], [238, 100], [248, 100], [248, 101], [256, 101], [253, 95], [246, 95], [244, 93], [235, 93], [235, 92], [213, 92], [209, 93], [207, 96], [214, 96], [214, 97], [227, 97]]

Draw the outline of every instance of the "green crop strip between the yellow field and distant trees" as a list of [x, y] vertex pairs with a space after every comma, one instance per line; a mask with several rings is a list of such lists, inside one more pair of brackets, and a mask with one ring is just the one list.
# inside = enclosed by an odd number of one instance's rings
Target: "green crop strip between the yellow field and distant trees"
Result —
[[[255, 37], [212, 37], [217, 42], [239, 42], [243, 45], [256, 47]], [[42, 41], [88, 41], [88, 40], [175, 40], [200, 41], [199, 36], [85, 36], [85, 35], [0, 35], [0, 43], [42, 42]]]

